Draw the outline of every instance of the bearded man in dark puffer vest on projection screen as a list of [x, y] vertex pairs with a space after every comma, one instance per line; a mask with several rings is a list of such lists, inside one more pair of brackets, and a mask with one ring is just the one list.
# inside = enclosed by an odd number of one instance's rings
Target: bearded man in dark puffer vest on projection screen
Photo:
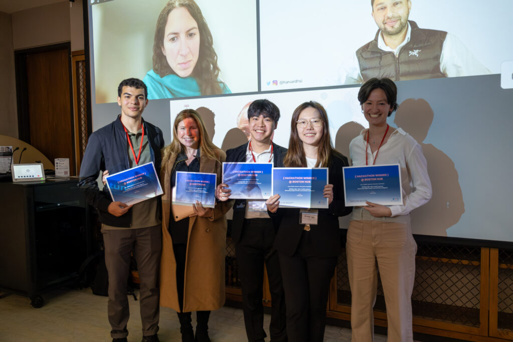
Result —
[[378, 32], [339, 70], [338, 84], [489, 74], [455, 35], [409, 21], [411, 0], [371, 0]]

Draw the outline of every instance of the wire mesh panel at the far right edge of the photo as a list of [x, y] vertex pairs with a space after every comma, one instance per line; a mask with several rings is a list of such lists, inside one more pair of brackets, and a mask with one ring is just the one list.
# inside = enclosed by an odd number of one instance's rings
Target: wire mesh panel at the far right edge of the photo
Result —
[[497, 328], [513, 331], [513, 252], [499, 250]]

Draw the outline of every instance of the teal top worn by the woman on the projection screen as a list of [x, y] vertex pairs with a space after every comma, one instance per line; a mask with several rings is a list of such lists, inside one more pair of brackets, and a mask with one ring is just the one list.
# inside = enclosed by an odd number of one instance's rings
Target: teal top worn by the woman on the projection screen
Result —
[[[230, 88], [221, 80], [219, 85], [223, 94], [231, 94]], [[173, 98], [201, 96], [200, 86], [194, 77], [180, 77], [175, 74], [169, 74], [164, 77], [159, 76], [152, 70], [146, 73], [143, 82], [148, 87], [148, 99]]]

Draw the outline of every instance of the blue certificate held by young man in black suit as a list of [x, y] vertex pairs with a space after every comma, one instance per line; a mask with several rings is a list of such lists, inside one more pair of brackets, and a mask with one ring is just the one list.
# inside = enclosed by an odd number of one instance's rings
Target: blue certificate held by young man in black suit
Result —
[[223, 163], [230, 198], [267, 199], [272, 192], [272, 163]]

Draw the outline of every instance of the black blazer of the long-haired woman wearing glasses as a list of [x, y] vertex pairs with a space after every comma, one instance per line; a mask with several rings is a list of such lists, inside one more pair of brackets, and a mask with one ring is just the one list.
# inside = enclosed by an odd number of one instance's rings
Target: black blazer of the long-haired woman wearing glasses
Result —
[[[311, 244], [317, 256], [332, 257], [341, 253], [339, 216], [349, 214], [352, 207], [344, 204], [344, 178], [342, 168], [349, 166], [347, 158], [333, 151], [328, 167], [328, 183], [333, 184], [333, 201], [328, 209], [319, 209], [318, 225], [311, 226]], [[299, 224], [299, 209], [279, 208], [274, 219], [280, 222], [274, 239], [274, 248], [279, 253], [292, 256], [298, 249], [304, 225]]]

